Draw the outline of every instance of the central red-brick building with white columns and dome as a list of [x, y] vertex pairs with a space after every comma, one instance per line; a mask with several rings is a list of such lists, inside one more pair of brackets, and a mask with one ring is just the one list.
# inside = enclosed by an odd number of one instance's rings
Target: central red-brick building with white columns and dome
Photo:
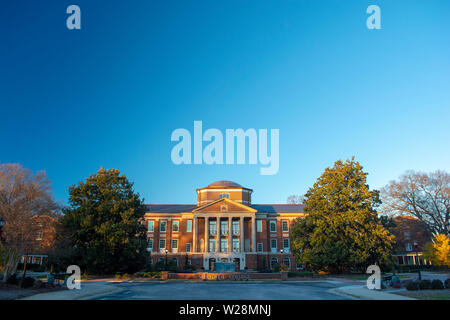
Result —
[[148, 250], [153, 263], [170, 259], [184, 268], [264, 270], [284, 263], [295, 270], [289, 233], [303, 205], [252, 204], [253, 190], [231, 181], [197, 189], [197, 204], [147, 205]]

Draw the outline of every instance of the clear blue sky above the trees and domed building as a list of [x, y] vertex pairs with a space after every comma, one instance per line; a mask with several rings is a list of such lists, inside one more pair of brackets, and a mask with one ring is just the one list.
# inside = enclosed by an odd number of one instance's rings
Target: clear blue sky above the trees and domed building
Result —
[[[382, 30], [366, 28], [370, 4]], [[373, 188], [448, 171], [449, 17], [447, 0], [4, 0], [0, 162], [45, 170], [63, 202], [101, 166], [148, 203], [194, 203], [223, 179], [283, 203], [352, 155]], [[194, 120], [280, 129], [278, 174], [174, 165], [170, 135]]]

